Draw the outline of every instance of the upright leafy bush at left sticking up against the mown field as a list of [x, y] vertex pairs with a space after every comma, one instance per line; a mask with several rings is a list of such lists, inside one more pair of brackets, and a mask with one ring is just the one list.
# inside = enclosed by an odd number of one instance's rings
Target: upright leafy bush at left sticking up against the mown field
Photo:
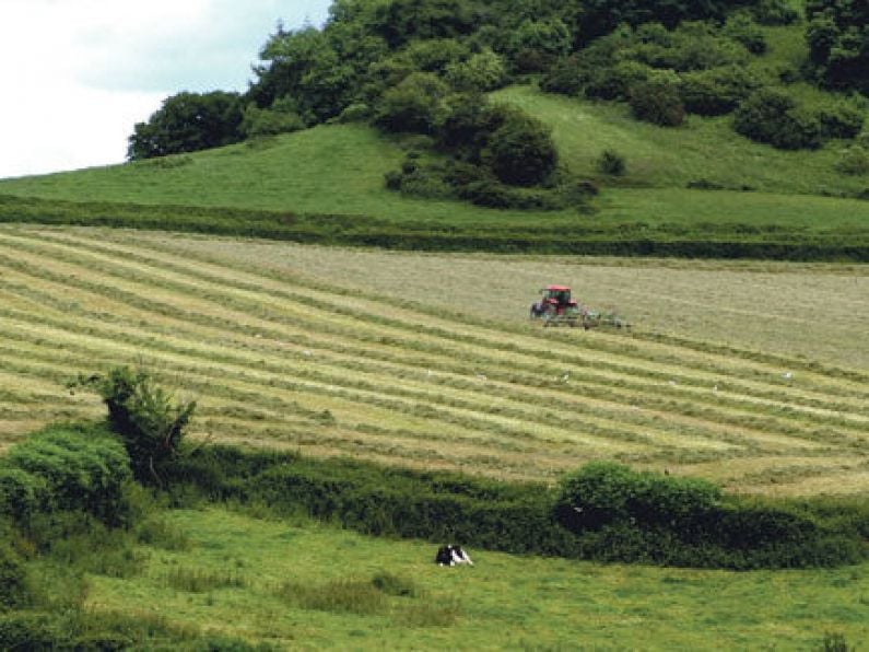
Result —
[[80, 376], [78, 384], [103, 398], [109, 428], [124, 441], [136, 479], [160, 484], [161, 474], [179, 454], [196, 401], [175, 404], [141, 368], [117, 366], [106, 375]]

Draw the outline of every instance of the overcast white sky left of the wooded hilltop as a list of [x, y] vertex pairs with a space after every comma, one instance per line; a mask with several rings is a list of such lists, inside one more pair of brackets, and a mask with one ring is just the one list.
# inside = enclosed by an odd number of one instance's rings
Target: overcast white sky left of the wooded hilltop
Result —
[[244, 91], [274, 32], [331, 0], [0, 0], [0, 178], [124, 161], [180, 91]]

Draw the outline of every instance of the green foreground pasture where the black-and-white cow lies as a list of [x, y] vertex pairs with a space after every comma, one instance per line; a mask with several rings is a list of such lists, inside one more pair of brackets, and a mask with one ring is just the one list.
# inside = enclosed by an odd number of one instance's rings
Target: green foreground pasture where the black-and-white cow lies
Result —
[[[190, 547], [140, 546], [140, 574], [90, 578], [90, 608], [156, 614], [173, 625], [306, 649], [790, 650], [820, 648], [827, 632], [852, 644], [869, 638], [866, 564], [732, 573], [471, 550], [474, 568], [443, 569], [431, 561], [431, 544], [362, 537], [304, 520], [220, 510], [166, 519]], [[243, 585], [178, 586], [177, 578], [207, 581], [227, 571]], [[384, 572], [415, 595], [371, 590]], [[285, 582], [307, 587], [309, 597], [281, 597]]]

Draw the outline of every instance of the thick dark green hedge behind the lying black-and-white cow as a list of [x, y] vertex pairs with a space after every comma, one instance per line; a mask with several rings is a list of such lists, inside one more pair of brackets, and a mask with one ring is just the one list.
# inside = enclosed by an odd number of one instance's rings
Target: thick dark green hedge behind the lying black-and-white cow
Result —
[[209, 446], [171, 491], [302, 510], [366, 534], [514, 554], [705, 568], [798, 568], [869, 555], [869, 511], [749, 502], [703, 480], [588, 465], [561, 489], [349, 459]]

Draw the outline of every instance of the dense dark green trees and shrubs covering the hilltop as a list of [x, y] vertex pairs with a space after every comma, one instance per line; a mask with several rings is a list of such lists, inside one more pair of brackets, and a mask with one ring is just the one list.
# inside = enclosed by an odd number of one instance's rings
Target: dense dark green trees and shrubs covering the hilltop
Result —
[[[766, 48], [760, 25], [800, 20], [787, 0], [334, 0], [321, 28], [279, 24], [246, 92], [167, 97], [136, 125], [128, 156], [367, 120], [430, 138], [426, 147], [449, 154], [446, 170], [408, 162], [387, 178], [395, 189], [557, 208], [576, 186], [565, 188], [559, 178], [549, 130], [518, 109], [489, 107], [484, 93], [533, 75], [544, 91], [623, 100], [638, 119], [666, 126], [686, 113], [741, 112], [737, 130], [775, 147], [853, 138], [865, 105], [809, 109], [784, 84], [867, 93], [864, 0], [808, 0], [803, 66], [777, 78], [745, 68]], [[483, 108], [471, 118], [473, 104]], [[520, 170], [510, 170], [510, 161]], [[539, 190], [515, 190], [531, 186]]]

